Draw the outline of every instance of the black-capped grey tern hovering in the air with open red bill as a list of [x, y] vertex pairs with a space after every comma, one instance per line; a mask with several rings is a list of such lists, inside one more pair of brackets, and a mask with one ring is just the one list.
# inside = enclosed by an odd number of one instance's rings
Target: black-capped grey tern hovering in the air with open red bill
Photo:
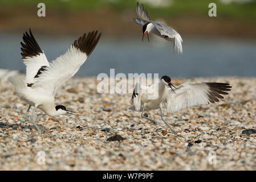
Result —
[[148, 16], [147, 10], [144, 9], [144, 5], [141, 4], [141, 6], [139, 6], [139, 2], [137, 2], [136, 5], [136, 13], [139, 16], [139, 18], [133, 18], [133, 20], [135, 21], [135, 23], [143, 25], [142, 40], [145, 34], [147, 34], [149, 41], [149, 33], [152, 32], [153, 34], [160, 36], [165, 40], [172, 41], [173, 52], [177, 51], [179, 54], [182, 53], [182, 38], [176, 30], [166, 26], [166, 24], [164, 23], [152, 21]]

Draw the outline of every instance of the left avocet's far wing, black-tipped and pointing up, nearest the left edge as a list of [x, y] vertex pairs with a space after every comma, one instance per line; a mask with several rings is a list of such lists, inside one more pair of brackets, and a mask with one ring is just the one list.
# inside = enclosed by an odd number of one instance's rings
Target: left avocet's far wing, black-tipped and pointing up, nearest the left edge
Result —
[[39, 47], [34, 36], [32, 35], [31, 29], [30, 34], [25, 32], [23, 34], [23, 42], [21, 42], [21, 55], [26, 65], [26, 78], [25, 84], [27, 86], [32, 86], [34, 84], [35, 78], [38, 77], [41, 71], [45, 67], [49, 66], [46, 55]]

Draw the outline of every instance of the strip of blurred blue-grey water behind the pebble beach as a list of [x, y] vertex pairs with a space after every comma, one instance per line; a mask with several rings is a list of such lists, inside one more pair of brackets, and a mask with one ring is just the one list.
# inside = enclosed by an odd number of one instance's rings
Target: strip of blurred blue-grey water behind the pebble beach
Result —
[[[76, 36], [34, 34], [49, 61], [66, 52]], [[147, 40], [147, 39], [146, 39]], [[115, 68], [115, 73], [159, 73], [171, 77], [256, 76], [256, 41], [239, 39], [183, 38], [182, 55], [173, 55], [173, 43], [154, 35], [137, 39], [100, 40], [76, 76], [97, 76]], [[22, 35], [0, 35], [0, 68], [25, 73], [21, 59]]]

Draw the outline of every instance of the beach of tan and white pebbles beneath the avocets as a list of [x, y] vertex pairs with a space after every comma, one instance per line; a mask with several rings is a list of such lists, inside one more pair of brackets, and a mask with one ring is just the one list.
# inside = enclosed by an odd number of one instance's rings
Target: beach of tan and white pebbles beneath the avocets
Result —
[[186, 81], [233, 88], [215, 104], [164, 111], [175, 136], [160, 110], [146, 112], [158, 122], [149, 123], [128, 110], [132, 94], [99, 94], [96, 77], [71, 78], [56, 93], [55, 103], [79, 116], [37, 109], [38, 133], [22, 122], [29, 105], [2, 79], [0, 170], [256, 170], [256, 78], [172, 78], [174, 85]]

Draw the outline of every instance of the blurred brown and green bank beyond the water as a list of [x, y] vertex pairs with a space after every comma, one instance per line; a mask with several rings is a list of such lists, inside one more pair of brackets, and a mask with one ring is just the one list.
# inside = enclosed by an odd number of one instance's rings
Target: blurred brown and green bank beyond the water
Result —
[[[46, 17], [38, 17], [37, 4], [44, 2]], [[216, 2], [217, 17], [209, 17], [206, 0], [172, 1], [169, 6], [153, 7], [145, 4], [153, 20], [161, 19], [182, 36], [231, 36], [256, 38], [256, 1], [249, 3]], [[45, 34], [82, 34], [98, 29], [104, 35], [141, 36], [135, 24], [136, 1], [14, 1], [2, 0], [0, 31], [23, 32], [32, 30]]]

